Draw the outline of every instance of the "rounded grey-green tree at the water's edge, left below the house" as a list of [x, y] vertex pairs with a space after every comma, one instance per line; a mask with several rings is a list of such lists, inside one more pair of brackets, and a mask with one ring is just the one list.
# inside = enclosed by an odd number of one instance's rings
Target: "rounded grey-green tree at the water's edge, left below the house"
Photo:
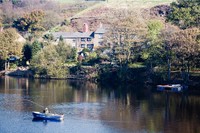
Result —
[[48, 45], [38, 52], [31, 61], [31, 68], [36, 75], [50, 78], [65, 78], [68, 73], [54, 45]]

